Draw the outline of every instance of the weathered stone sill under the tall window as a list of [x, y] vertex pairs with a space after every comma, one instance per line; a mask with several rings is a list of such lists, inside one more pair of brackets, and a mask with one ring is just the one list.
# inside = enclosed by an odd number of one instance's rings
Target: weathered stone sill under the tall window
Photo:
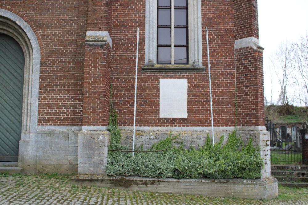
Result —
[[205, 72], [205, 67], [193, 67], [191, 65], [145, 65], [144, 72]]

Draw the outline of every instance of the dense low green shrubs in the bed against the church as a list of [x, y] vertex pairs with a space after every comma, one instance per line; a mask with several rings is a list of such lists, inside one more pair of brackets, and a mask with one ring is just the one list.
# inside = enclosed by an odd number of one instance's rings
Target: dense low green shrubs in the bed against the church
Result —
[[[252, 139], [239, 150], [242, 140], [236, 137], [236, 132], [229, 134], [228, 141], [222, 145], [224, 136], [214, 146], [209, 135], [204, 146], [195, 150], [172, 147], [177, 136], [167, 137], [153, 144], [149, 150], [160, 152], [135, 152], [132, 157], [128, 152], [110, 151], [106, 167], [107, 175], [160, 177], [160, 178], [244, 178], [261, 177], [263, 161], [257, 149], [252, 145]], [[111, 145], [119, 147], [120, 145]], [[124, 148], [120, 146], [119, 148]]]

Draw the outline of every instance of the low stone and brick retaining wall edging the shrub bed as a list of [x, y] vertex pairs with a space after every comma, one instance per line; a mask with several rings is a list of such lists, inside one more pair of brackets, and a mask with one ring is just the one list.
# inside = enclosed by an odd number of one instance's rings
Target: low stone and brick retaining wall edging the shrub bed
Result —
[[278, 181], [266, 179], [159, 179], [136, 176], [78, 175], [72, 183], [134, 191], [154, 191], [215, 197], [272, 199], [278, 196]]

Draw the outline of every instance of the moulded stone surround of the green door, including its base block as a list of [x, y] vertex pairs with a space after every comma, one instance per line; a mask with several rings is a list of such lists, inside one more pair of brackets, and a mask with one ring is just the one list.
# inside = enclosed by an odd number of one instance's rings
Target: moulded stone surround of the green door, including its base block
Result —
[[[4, 6], [11, 10], [11, 8]], [[3, 8], [3, 6], [2, 6]], [[14, 38], [24, 54], [24, 77], [22, 98], [22, 126], [19, 140], [18, 166], [27, 173], [36, 172], [37, 116], [39, 103], [39, 73], [41, 50], [35, 28], [24, 20], [22, 14], [0, 9], [0, 34]], [[34, 29], [34, 30], [33, 30]], [[40, 37], [39, 37], [40, 39]], [[1, 142], [0, 142], [1, 143]], [[6, 159], [5, 161], [7, 161]], [[16, 160], [16, 158], [15, 158]], [[27, 168], [27, 169], [26, 169]]]

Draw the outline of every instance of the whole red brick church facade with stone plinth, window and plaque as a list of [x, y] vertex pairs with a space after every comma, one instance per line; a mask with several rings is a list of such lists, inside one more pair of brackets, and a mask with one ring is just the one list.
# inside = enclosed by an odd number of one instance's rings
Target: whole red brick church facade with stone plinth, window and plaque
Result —
[[170, 131], [202, 145], [212, 132], [206, 27], [215, 140], [235, 128], [252, 136], [270, 177], [257, 0], [2, 0], [1, 160], [27, 173], [104, 174], [110, 101], [132, 142], [137, 28], [136, 146]]

